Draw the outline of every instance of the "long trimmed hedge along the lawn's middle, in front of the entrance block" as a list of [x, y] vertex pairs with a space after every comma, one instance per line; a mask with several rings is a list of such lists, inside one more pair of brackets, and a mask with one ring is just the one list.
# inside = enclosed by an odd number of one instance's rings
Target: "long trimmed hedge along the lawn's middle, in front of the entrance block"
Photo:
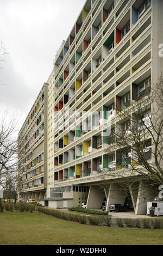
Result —
[[106, 225], [108, 227], [111, 226], [110, 217], [86, 216], [82, 214], [74, 214], [72, 212], [43, 208], [41, 206], [37, 207], [37, 211], [42, 212], [43, 214], [54, 216], [56, 218], [61, 218], [62, 220], [74, 221], [80, 224]]

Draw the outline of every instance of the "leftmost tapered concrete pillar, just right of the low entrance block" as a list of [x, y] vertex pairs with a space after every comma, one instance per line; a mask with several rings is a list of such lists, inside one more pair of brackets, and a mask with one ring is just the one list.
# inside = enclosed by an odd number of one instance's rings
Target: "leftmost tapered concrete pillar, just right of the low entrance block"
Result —
[[105, 194], [99, 187], [90, 186], [89, 194], [87, 197], [86, 209], [101, 209], [102, 202], [104, 200]]

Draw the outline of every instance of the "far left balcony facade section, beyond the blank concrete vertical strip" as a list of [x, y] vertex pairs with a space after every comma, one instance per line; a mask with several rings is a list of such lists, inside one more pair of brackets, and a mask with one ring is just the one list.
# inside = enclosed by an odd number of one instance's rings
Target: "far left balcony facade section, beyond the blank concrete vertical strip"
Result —
[[[41, 88], [18, 135], [18, 195], [42, 202], [47, 187], [47, 88]], [[44, 201], [43, 201], [44, 203]]]

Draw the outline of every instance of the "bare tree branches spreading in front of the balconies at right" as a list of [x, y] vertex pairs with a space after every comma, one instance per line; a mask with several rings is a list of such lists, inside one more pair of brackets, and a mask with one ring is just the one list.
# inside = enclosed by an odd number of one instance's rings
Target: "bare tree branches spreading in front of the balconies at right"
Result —
[[[143, 92], [143, 93], [142, 93]], [[163, 184], [163, 76], [135, 90], [135, 99], [116, 106], [116, 121], [105, 153], [104, 179], [119, 178], [124, 185], [147, 179], [158, 189]]]

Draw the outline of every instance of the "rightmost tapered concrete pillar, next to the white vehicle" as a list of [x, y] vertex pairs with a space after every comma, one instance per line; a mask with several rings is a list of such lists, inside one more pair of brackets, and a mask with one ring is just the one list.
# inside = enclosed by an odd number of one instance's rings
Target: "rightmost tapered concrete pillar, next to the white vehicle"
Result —
[[147, 202], [152, 201], [153, 197], [154, 191], [152, 187], [147, 184], [147, 181], [141, 180], [137, 194], [135, 215], [147, 214]]

